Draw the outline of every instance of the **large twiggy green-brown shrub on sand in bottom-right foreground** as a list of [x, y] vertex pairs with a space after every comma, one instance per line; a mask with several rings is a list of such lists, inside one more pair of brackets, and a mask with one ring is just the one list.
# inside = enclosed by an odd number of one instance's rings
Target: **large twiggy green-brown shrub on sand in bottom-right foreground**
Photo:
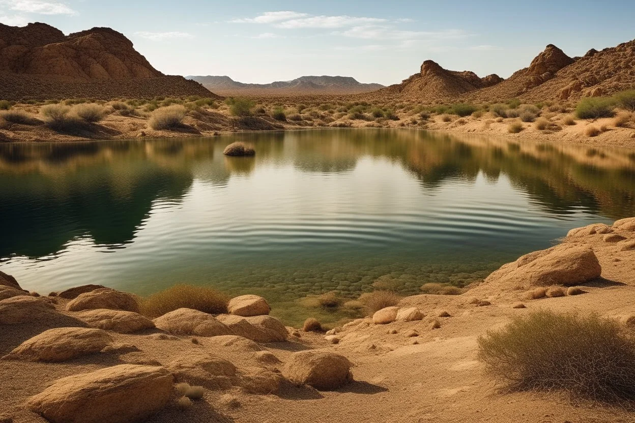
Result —
[[635, 400], [635, 340], [615, 320], [536, 311], [478, 340], [479, 360], [512, 389]]

